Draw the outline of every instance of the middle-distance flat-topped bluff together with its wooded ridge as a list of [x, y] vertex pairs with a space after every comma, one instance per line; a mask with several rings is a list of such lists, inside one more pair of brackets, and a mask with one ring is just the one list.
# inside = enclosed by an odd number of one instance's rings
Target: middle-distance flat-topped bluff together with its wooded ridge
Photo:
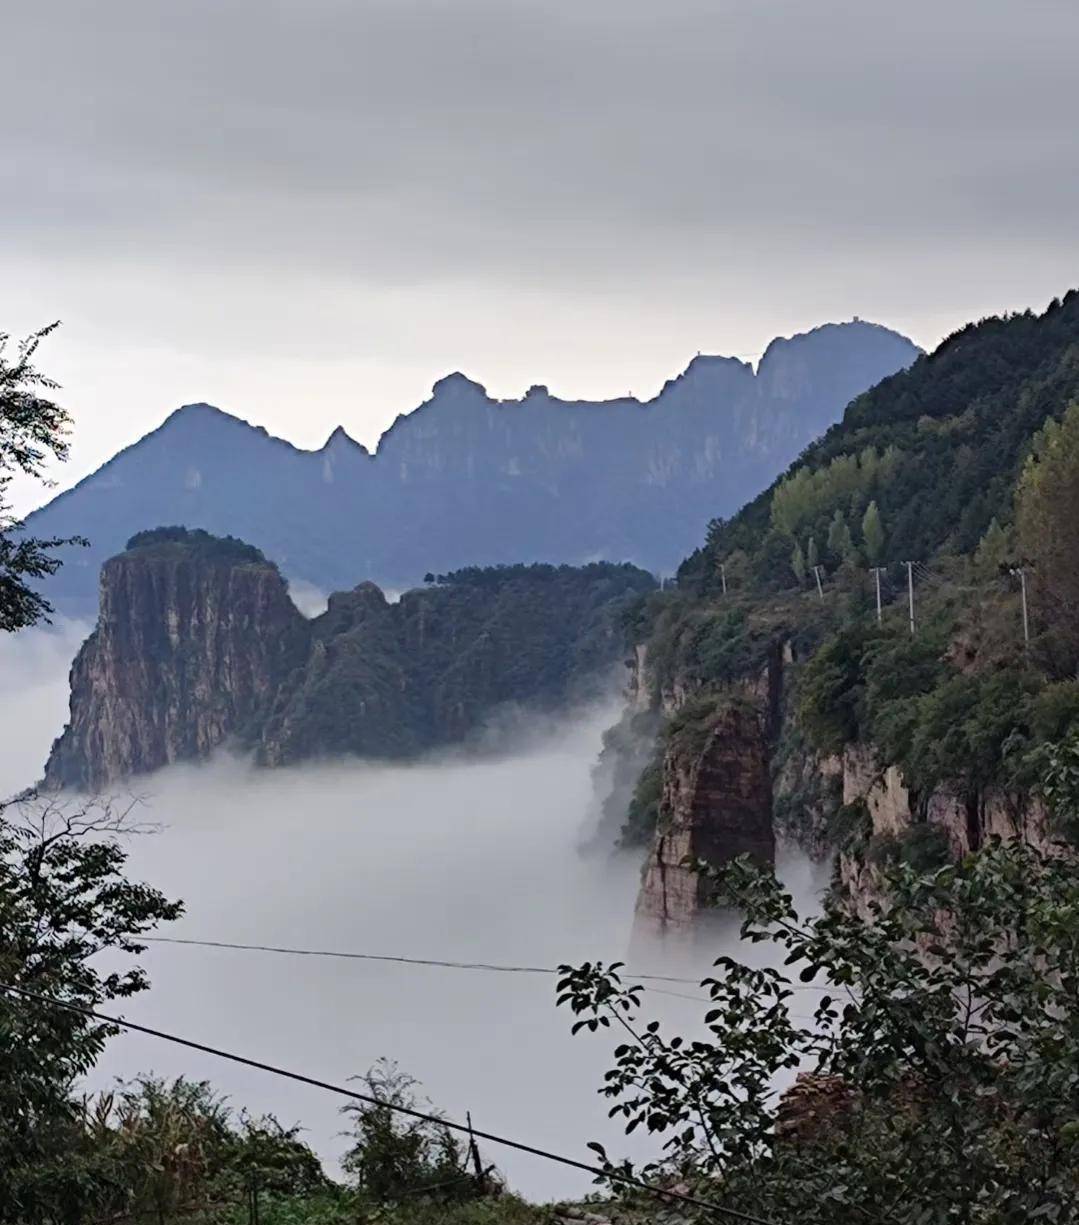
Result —
[[622, 655], [617, 612], [655, 581], [633, 566], [472, 568], [391, 604], [374, 583], [309, 621], [251, 545], [136, 535], [102, 572], [47, 766], [97, 789], [222, 745], [265, 764], [414, 757], [498, 712], [595, 696]]

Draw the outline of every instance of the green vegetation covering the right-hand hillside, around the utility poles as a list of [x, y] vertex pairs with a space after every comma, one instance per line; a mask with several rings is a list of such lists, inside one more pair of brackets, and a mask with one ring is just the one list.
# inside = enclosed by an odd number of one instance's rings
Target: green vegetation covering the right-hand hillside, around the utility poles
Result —
[[[1042, 746], [1079, 718], [1077, 404], [1072, 292], [949, 337], [713, 522], [679, 590], [627, 615], [653, 701], [676, 713], [626, 839], [663, 820], [656, 771], [694, 712], [759, 686], [779, 643], [791, 666], [769, 712], [776, 816], [817, 853], [866, 828], [818, 769], [848, 746], [897, 767], [922, 821], [942, 788], [971, 811], [993, 789], [1030, 794]], [[939, 833], [911, 838], [941, 851]]]

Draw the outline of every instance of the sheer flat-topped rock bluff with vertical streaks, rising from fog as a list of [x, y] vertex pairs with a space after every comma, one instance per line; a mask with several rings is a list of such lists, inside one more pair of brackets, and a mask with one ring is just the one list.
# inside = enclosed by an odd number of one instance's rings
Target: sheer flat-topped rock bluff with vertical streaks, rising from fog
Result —
[[305, 633], [284, 579], [265, 561], [171, 546], [111, 559], [47, 782], [92, 790], [207, 756], [255, 718]]

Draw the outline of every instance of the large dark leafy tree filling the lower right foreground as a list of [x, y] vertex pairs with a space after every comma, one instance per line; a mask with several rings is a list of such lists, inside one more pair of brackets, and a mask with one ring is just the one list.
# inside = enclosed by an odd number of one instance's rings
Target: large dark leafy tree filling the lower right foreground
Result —
[[[645, 1176], [810, 1225], [1077, 1219], [1068, 856], [993, 842], [937, 870], [900, 861], [868, 920], [837, 899], [803, 919], [745, 860], [718, 880], [743, 938], [773, 942], [783, 969], [716, 960], [707, 1036], [642, 1023], [644, 992], [618, 965], [561, 968], [574, 1031], [625, 1035], [600, 1091], [627, 1131], [663, 1138]], [[781, 1091], [796, 1068], [812, 1071]]]

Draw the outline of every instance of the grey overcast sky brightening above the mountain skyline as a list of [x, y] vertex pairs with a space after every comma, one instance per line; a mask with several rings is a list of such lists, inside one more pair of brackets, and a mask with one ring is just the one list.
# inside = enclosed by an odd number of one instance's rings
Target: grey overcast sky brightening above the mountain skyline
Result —
[[2, 37], [0, 330], [64, 320], [65, 484], [190, 401], [374, 443], [453, 369], [645, 397], [1079, 283], [1075, 0], [34, 0]]

